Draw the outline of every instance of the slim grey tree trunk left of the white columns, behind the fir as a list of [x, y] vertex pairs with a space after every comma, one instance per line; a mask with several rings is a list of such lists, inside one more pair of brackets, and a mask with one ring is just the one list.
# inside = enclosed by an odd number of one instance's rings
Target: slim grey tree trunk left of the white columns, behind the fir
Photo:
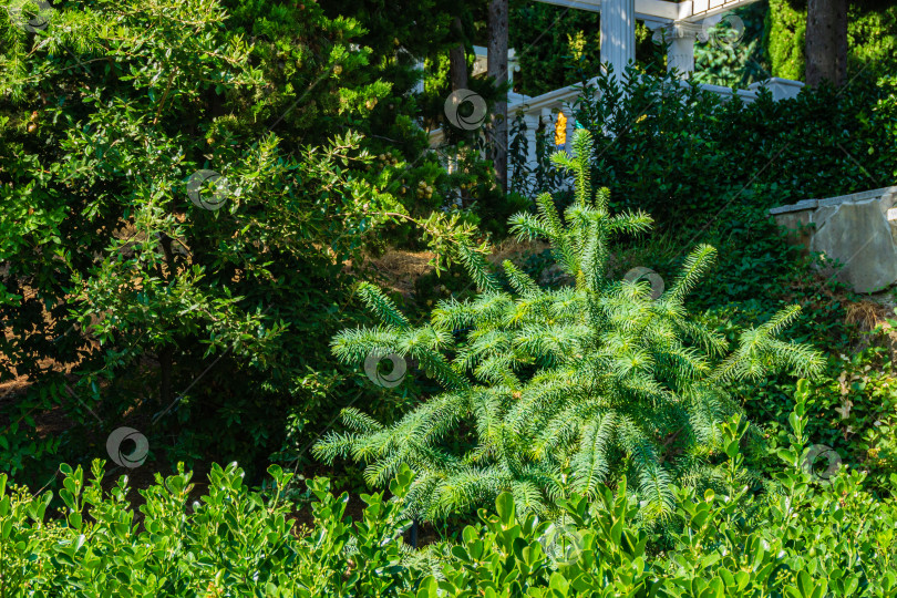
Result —
[[[489, 0], [488, 59], [486, 73], [496, 85], [507, 82], [507, 13], [508, 0]], [[504, 96], [493, 109], [492, 152], [495, 176], [507, 192], [507, 99]]]

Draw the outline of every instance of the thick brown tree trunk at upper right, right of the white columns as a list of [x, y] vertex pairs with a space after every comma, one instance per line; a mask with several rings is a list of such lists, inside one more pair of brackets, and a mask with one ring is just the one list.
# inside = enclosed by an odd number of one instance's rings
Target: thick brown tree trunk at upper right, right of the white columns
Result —
[[806, 11], [806, 83], [847, 79], [847, 0], [808, 0]]

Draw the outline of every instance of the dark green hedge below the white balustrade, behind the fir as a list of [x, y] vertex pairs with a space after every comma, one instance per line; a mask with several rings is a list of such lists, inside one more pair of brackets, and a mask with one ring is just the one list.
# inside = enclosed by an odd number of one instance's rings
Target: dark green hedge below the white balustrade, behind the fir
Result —
[[[805, 89], [779, 102], [764, 93], [745, 104], [669, 74], [629, 73], [626, 87], [598, 76], [574, 109], [576, 125], [596, 140], [591, 179], [619, 208], [700, 227], [739, 206], [765, 209], [897, 179], [895, 76], [863, 73], [839, 90]], [[532, 190], [563, 188], [547, 159], [532, 174]]]

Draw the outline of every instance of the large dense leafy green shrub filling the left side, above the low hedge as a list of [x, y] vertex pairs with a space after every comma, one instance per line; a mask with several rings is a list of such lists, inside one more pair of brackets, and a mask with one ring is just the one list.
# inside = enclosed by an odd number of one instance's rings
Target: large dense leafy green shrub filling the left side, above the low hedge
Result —
[[[355, 42], [362, 25], [315, 2], [71, 3], [37, 32], [13, 14], [0, 379], [29, 385], [0, 405], [0, 470], [45, 480], [60, 447], [90, 461], [127, 422], [151, 458], [264, 471], [351, 399], [327, 344], [354, 311], [346, 264], [415, 216], [441, 250], [472, 234], [431, 214], [439, 190], [403, 199], [445, 177], [425, 134], [403, 106], [378, 107], [392, 83]], [[384, 156], [379, 133], [408, 144]], [[192, 200], [199, 171], [226, 185]], [[34, 414], [51, 410], [66, 424], [47, 437]]]

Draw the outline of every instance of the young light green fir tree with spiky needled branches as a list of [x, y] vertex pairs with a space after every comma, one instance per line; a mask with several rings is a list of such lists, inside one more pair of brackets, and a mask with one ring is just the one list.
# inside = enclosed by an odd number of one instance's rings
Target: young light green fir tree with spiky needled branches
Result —
[[801, 375], [819, 370], [810, 348], [776, 338], [796, 306], [743, 331], [735, 348], [687, 311], [684, 298], [711, 266], [712, 247], [699, 246], [657, 299], [645, 281], [608, 278], [611, 238], [643, 231], [651, 219], [609, 213], [607, 192], [594, 193], [589, 181], [591, 147], [579, 130], [575, 157], [553, 156], [576, 181], [564, 218], [544, 194], [538, 215], [511, 223], [520, 238], [548, 239], [574, 286], [543, 289], [505, 261], [513, 288], [506, 292], [471, 260], [482, 292], [441, 302], [421, 327], [377, 288], [361, 288], [381, 324], [344, 330], [334, 354], [347, 363], [371, 353], [406, 355], [445, 392], [391, 426], [346, 410], [350, 431], [326, 436], [315, 447], [319, 457], [364, 462], [378, 485], [409, 464], [417, 474], [409, 504], [424, 519], [486, 505], [503, 491], [524, 512], [550, 515], [549, 505], [570, 491], [594, 497], [622, 474], [637, 481], [649, 512], [662, 515], [674, 482], [711, 470], [719, 424], [739, 409], [722, 382], [780, 368]]

